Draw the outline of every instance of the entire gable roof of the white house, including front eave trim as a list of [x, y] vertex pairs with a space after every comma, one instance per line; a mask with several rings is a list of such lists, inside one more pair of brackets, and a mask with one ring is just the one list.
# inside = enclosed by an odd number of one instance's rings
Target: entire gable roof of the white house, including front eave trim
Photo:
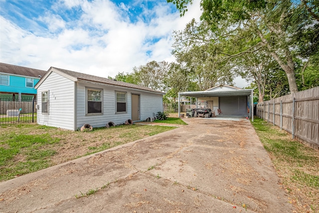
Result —
[[82, 81], [82, 82], [96, 82], [100, 84], [108, 84], [108, 85], [115, 85], [115, 86], [120, 86], [120, 87], [127, 87], [127, 88], [134, 88], [134, 89], [140, 89], [140, 90], [146, 90], [150, 92], [156, 92], [160, 94], [165, 94], [163, 92], [151, 89], [149, 87], [145, 86], [140, 86], [136, 84], [131, 84], [123, 81], [117, 81], [109, 78], [103, 78], [95, 75], [89, 75], [89, 74], [84, 74], [80, 72], [74, 72], [71, 70], [66, 70], [66, 69], [61, 69], [61, 68], [56, 68], [56, 67], [50, 67], [50, 69], [47, 71], [46, 75], [41, 78], [41, 80], [34, 86], [34, 88], [38, 88], [40, 84], [49, 76], [51, 72], [55, 72], [59, 75], [62, 75], [72, 81]]

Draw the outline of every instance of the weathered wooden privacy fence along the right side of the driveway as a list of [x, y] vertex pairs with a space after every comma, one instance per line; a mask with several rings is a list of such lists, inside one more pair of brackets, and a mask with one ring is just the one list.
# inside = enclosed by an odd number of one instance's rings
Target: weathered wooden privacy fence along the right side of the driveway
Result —
[[319, 87], [257, 104], [257, 116], [319, 151]]

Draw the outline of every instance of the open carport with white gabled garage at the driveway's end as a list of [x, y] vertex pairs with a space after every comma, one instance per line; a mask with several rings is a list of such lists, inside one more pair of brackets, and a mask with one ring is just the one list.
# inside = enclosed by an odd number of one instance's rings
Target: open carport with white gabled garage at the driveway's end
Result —
[[[240, 89], [229, 85], [217, 85], [205, 91], [178, 93], [178, 105], [180, 97], [194, 97], [197, 101], [207, 101], [211, 110], [217, 115], [217, 109], [221, 109], [223, 115], [243, 116], [253, 119], [253, 89]], [[180, 108], [180, 107], [179, 107]], [[180, 114], [180, 112], [178, 111]]]

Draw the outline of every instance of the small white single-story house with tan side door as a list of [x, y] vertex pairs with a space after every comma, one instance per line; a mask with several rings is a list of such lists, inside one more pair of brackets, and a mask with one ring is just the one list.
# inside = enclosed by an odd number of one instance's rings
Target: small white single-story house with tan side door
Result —
[[148, 87], [50, 67], [35, 85], [37, 123], [78, 130], [84, 124], [154, 118], [162, 111], [164, 93]]

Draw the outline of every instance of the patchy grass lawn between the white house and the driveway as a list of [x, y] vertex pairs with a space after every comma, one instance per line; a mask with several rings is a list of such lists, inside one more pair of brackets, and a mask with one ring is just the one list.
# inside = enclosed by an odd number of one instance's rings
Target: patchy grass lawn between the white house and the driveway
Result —
[[[176, 127], [134, 124], [94, 128], [90, 132], [69, 131], [37, 124], [10, 124], [1, 125], [0, 128], [2, 161], [0, 181], [5, 181]], [[45, 138], [48, 143], [40, 141], [31, 142], [25, 146], [20, 145], [24, 143], [25, 138], [35, 141], [39, 137], [40, 139], [43, 137], [43, 140]], [[10, 154], [10, 152], [15, 154]]]

